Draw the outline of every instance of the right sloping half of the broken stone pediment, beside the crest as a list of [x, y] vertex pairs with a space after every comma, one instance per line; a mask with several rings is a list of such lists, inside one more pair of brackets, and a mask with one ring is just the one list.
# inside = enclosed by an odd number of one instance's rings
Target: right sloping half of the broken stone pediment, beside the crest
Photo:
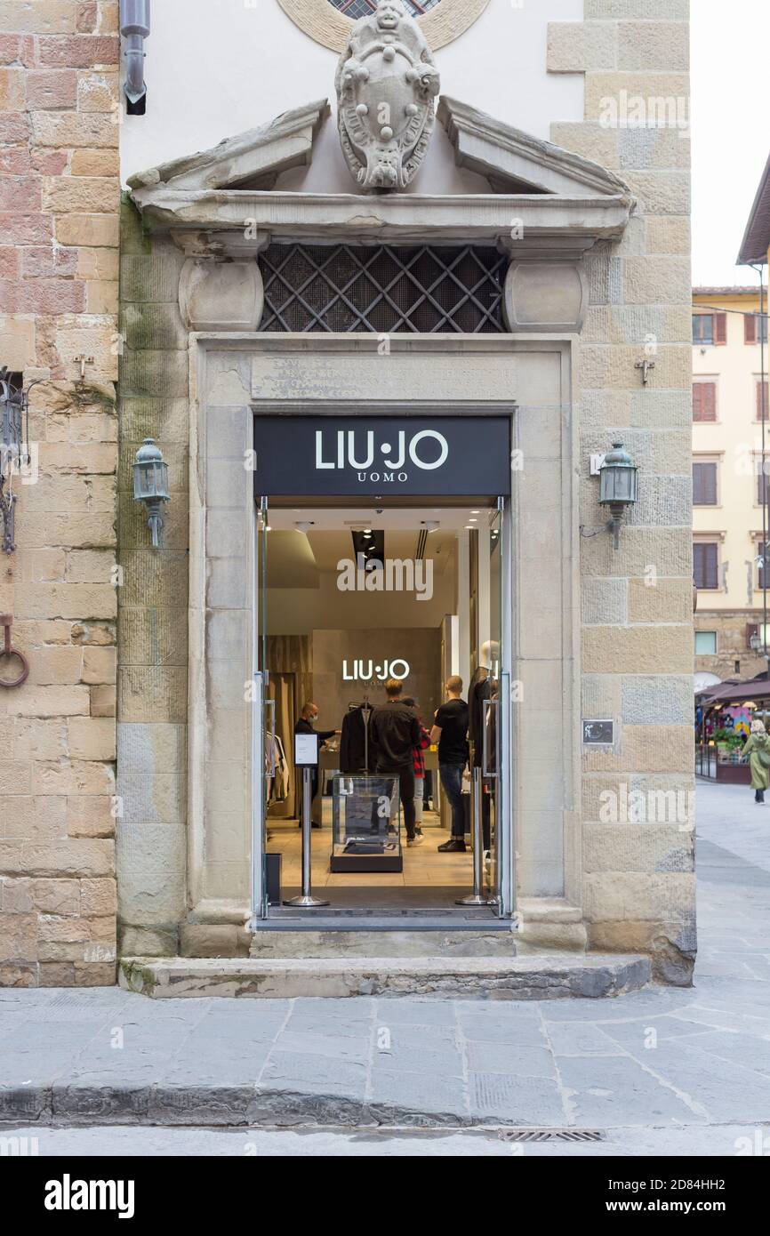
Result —
[[550, 193], [564, 198], [629, 193], [598, 163], [506, 125], [467, 103], [441, 95], [438, 116], [459, 167], [484, 176], [496, 193]]

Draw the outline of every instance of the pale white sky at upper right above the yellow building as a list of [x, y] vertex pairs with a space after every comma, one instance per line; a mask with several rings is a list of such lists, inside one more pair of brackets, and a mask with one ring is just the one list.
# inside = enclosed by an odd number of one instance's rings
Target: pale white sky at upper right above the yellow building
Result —
[[692, 282], [758, 284], [735, 266], [770, 154], [770, 2], [691, 0]]

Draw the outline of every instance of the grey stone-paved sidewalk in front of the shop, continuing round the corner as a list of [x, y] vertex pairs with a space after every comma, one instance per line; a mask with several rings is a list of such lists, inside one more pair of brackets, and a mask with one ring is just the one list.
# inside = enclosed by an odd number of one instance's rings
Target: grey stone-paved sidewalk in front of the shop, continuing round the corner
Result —
[[697, 818], [691, 990], [522, 1004], [5, 990], [0, 1112], [38, 1127], [691, 1126], [734, 1153], [719, 1126], [770, 1125], [770, 808], [700, 784]]

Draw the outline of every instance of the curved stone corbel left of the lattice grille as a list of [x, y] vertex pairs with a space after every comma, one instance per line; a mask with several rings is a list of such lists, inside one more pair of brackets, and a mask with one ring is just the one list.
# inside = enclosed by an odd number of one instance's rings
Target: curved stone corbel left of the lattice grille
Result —
[[256, 255], [188, 257], [179, 277], [179, 311], [189, 330], [260, 329], [264, 287]]

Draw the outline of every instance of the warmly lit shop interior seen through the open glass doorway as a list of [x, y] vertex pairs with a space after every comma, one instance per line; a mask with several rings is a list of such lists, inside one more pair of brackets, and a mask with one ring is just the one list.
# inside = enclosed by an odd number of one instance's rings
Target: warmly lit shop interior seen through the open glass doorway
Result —
[[[483, 660], [499, 658], [501, 514], [481, 503], [455, 507], [273, 507], [261, 517], [262, 640], [268, 671], [266, 733], [266, 854], [269, 917], [302, 884], [302, 770], [293, 765], [294, 733], [313, 705], [319, 744], [311, 779], [313, 892], [339, 911], [456, 911], [473, 883], [471, 774], [463, 775], [465, 850], [451, 839], [451, 810], [429, 742], [450, 675], [462, 698]], [[481, 675], [487, 676], [486, 669]], [[476, 677], [473, 677], [476, 676]], [[423, 737], [424, 776], [415, 781], [417, 828], [409, 843], [398, 786], [376, 776], [367, 749], [372, 709], [386, 702], [386, 681], [402, 681]], [[307, 709], [305, 709], [307, 711]], [[315, 716], [318, 713], [318, 716]], [[472, 748], [471, 748], [472, 763]], [[420, 760], [418, 758], [419, 772]], [[351, 774], [346, 776], [346, 774]], [[484, 883], [494, 879], [494, 795], [483, 802]], [[372, 826], [370, 795], [379, 803]], [[387, 803], [383, 810], [383, 801]], [[363, 816], [360, 836], [351, 826]], [[361, 823], [361, 821], [360, 821]], [[320, 826], [320, 827], [319, 827]], [[279, 889], [279, 894], [277, 894]], [[472, 915], [489, 916], [491, 907]]]

